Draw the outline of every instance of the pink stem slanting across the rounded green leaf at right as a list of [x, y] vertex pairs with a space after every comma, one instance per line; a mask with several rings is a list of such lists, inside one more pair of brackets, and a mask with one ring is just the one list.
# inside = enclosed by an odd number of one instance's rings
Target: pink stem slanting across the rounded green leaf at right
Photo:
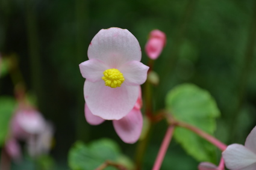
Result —
[[195, 132], [196, 134], [198, 134], [202, 138], [206, 139], [208, 142], [211, 142], [211, 144], [213, 144], [216, 147], [218, 147], [221, 151], [226, 150], [226, 145], [225, 144], [223, 144], [222, 142], [220, 142], [218, 139], [214, 138], [213, 136], [209, 135], [208, 133], [205, 133], [201, 129], [198, 129], [195, 126], [192, 126], [190, 124], [187, 124], [187, 123], [184, 123], [184, 122], [180, 122], [180, 121], [175, 121], [174, 124], [175, 124], [175, 126], [184, 127], [186, 129], [191, 130], [192, 132]]

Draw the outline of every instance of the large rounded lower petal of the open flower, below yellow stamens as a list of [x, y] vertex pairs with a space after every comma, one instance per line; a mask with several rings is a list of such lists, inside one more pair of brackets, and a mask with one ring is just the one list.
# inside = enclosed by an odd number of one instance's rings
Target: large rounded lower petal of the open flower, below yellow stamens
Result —
[[136, 103], [139, 86], [111, 88], [104, 80], [84, 83], [84, 99], [93, 115], [105, 120], [119, 120], [125, 117]]

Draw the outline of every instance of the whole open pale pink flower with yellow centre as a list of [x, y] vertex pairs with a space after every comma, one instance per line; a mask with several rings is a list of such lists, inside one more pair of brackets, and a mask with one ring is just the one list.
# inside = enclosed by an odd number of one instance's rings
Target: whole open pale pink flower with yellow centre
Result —
[[149, 68], [140, 62], [141, 56], [139, 42], [127, 29], [101, 29], [93, 37], [89, 60], [79, 65], [92, 115], [120, 120], [131, 112]]

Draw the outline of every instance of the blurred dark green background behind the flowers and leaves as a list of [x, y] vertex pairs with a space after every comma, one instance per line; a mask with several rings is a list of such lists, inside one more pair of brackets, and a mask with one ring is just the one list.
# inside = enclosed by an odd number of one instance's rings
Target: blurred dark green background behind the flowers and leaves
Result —
[[[154, 87], [154, 111], [164, 108], [175, 85], [195, 83], [210, 92], [222, 113], [216, 138], [244, 144], [256, 125], [255, 11], [255, 0], [0, 0], [0, 52], [17, 56], [28, 91], [55, 126], [51, 155], [58, 169], [69, 169], [67, 153], [76, 140], [111, 138], [134, 157], [136, 144], [124, 144], [111, 121], [90, 126], [84, 118], [78, 64], [87, 60], [94, 35], [112, 26], [128, 29], [139, 40], [144, 64], [149, 32], [166, 33], [166, 47], [155, 61], [160, 84]], [[14, 96], [9, 75], [0, 84], [1, 95]], [[143, 169], [151, 169], [166, 127], [164, 121], [154, 126]], [[172, 141], [162, 169], [197, 165]]]

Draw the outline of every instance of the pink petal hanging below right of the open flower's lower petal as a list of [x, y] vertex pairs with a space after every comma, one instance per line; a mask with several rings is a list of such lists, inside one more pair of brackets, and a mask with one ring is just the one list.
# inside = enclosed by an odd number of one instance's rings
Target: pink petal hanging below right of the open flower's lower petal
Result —
[[140, 138], [142, 133], [143, 118], [138, 109], [131, 112], [120, 120], [113, 120], [114, 129], [123, 142], [133, 144]]

